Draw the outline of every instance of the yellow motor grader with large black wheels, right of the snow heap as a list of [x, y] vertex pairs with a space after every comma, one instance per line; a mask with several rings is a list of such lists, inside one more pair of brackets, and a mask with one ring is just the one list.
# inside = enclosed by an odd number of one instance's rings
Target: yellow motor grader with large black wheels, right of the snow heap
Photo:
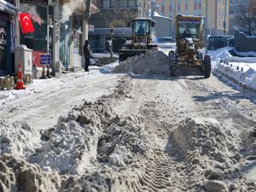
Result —
[[[211, 57], [202, 48], [204, 17], [177, 15], [176, 17], [176, 50], [169, 52], [170, 74], [176, 76], [179, 72], [186, 74], [211, 75]], [[198, 68], [194, 70], [194, 68]], [[193, 73], [192, 73], [193, 71]], [[196, 72], [195, 72], [196, 71]]]

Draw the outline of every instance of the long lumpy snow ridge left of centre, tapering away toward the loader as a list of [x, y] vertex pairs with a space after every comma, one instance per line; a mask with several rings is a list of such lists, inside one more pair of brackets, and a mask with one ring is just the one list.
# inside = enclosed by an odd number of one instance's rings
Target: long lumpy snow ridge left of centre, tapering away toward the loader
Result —
[[95, 103], [84, 102], [74, 108], [67, 117], [60, 117], [57, 125], [44, 132], [49, 140], [41, 151], [33, 154], [31, 161], [44, 170], [57, 170], [60, 174], [77, 174], [94, 166], [97, 145], [102, 131], [116, 119], [112, 107], [124, 98], [130, 89], [130, 80], [122, 79], [109, 96], [102, 96]]

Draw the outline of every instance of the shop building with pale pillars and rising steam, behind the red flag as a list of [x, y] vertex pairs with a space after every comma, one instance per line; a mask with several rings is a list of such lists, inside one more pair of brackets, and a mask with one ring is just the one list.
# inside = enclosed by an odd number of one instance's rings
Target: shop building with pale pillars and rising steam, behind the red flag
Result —
[[[41, 1], [42, 2], [42, 1]], [[22, 3], [20, 12], [29, 13], [35, 32], [22, 34], [20, 44], [32, 49], [33, 66], [42, 67], [40, 55], [49, 54], [52, 68], [59, 72], [84, 67], [82, 47], [88, 38], [88, 20], [97, 9], [91, 1], [46, 1]]]

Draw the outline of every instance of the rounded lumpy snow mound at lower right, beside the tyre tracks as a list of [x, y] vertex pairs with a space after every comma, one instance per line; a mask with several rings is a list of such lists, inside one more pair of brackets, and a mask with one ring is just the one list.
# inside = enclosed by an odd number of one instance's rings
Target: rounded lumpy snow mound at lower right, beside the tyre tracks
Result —
[[[241, 165], [241, 154], [235, 137], [216, 119], [187, 118], [171, 131], [174, 148], [189, 163], [192, 183], [209, 192], [230, 189], [256, 189], [255, 183], [241, 179], [236, 168]], [[201, 178], [199, 178], [201, 177]], [[230, 182], [231, 181], [231, 182]], [[247, 186], [243, 186], [247, 183]]]

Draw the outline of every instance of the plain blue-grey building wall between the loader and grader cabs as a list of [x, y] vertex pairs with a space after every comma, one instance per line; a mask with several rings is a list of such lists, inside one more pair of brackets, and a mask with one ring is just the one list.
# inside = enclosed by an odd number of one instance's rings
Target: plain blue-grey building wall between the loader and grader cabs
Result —
[[154, 26], [156, 37], [172, 37], [172, 20], [170, 18], [154, 16], [156, 21]]

